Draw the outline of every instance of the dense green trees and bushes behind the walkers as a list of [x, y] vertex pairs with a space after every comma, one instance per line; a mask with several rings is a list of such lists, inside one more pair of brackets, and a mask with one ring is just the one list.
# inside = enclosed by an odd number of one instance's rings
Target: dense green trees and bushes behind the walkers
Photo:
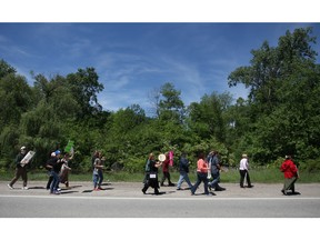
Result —
[[[89, 171], [99, 149], [110, 169], [143, 171], [147, 156], [182, 151], [196, 162], [200, 151], [220, 151], [224, 164], [238, 166], [242, 152], [254, 163], [278, 164], [293, 154], [319, 169], [320, 66], [312, 29], [296, 29], [279, 38], [277, 47], [263, 42], [252, 50], [250, 66], [228, 78], [250, 89], [248, 99], [228, 92], [204, 94], [184, 106], [181, 92], [166, 83], [153, 92], [152, 117], [136, 103], [116, 112], [103, 110], [97, 94], [103, 90], [94, 68], [50, 79], [26, 77], [0, 61], [0, 169], [13, 167], [21, 146], [36, 150], [31, 168], [42, 168], [51, 151], [76, 142], [72, 168]], [[194, 164], [193, 164], [194, 166]], [[307, 167], [306, 167], [307, 168]], [[308, 167], [310, 168], [310, 167]]]

